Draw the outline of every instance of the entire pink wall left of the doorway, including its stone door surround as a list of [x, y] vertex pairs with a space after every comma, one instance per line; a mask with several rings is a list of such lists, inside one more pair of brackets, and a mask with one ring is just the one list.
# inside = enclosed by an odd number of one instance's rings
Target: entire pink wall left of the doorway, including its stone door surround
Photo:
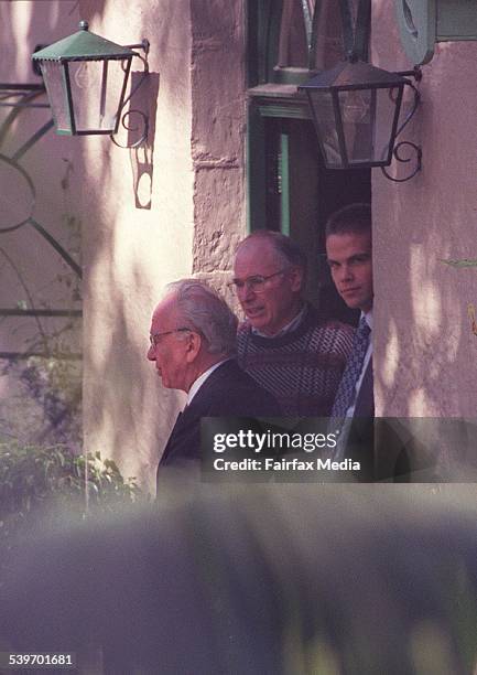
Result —
[[[151, 43], [150, 77], [131, 105], [150, 117], [145, 147], [123, 150], [108, 138], [51, 131], [24, 161], [37, 181], [37, 219], [65, 245], [66, 215], [82, 224], [85, 450], [112, 457], [124, 474], [152, 486], [183, 398], [162, 388], [145, 360], [152, 310], [181, 277], [205, 276], [225, 288], [246, 229], [243, 2], [52, 0], [2, 3], [0, 12], [3, 81], [31, 81], [34, 45], [75, 32], [79, 19], [119, 44]], [[133, 82], [141, 69], [135, 60]], [[22, 114], [3, 151], [13, 152], [42, 116], [48, 111]], [[122, 144], [132, 139], [124, 129], [117, 137]], [[24, 202], [20, 189], [12, 192], [13, 204]], [[1, 244], [42, 289], [54, 265], [34, 236], [22, 231]], [[18, 283], [4, 278], [3, 304], [14, 306]], [[18, 333], [3, 330], [4, 350], [15, 341]], [[6, 387], [0, 379], [0, 394]]]

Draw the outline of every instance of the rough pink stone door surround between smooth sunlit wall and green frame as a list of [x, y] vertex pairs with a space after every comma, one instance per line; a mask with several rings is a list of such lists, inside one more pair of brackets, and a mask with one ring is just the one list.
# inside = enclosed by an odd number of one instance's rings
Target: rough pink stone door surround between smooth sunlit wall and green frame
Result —
[[193, 271], [227, 292], [246, 232], [243, 3], [196, 0], [192, 9]]

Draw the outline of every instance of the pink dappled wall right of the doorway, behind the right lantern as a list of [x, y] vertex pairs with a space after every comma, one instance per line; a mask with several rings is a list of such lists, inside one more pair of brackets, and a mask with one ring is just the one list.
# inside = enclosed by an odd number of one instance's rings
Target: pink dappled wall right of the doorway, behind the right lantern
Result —
[[[372, 61], [408, 69], [391, 0], [373, 2]], [[422, 106], [402, 133], [422, 146], [422, 172], [372, 176], [376, 398], [380, 415], [475, 417], [477, 268], [476, 42], [441, 43], [419, 85]], [[403, 165], [400, 172], [405, 172]], [[403, 174], [403, 173], [402, 173]]]

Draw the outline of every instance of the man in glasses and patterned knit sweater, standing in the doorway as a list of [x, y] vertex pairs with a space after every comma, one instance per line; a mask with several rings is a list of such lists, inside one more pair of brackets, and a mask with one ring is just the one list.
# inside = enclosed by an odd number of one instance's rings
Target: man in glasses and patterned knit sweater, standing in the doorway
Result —
[[286, 236], [259, 231], [237, 249], [234, 287], [246, 314], [239, 365], [290, 417], [326, 417], [351, 350], [353, 329], [319, 320], [303, 299], [306, 264]]

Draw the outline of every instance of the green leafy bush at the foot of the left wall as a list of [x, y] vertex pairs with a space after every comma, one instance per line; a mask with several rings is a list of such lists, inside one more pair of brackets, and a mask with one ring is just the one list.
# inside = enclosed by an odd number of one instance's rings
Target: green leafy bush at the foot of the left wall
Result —
[[[0, 443], [0, 550], [35, 523], [54, 526], [65, 512], [78, 519], [111, 513], [141, 500], [133, 479], [124, 480], [113, 461], [74, 454], [65, 446]], [[88, 514], [86, 514], [86, 504]]]

